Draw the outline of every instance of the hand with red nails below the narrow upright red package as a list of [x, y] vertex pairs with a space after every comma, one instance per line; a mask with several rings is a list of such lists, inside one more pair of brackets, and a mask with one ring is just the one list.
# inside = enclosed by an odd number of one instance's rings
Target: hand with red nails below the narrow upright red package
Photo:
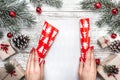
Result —
[[96, 80], [96, 62], [94, 58], [94, 47], [90, 47], [87, 55], [86, 61], [83, 62], [83, 59], [80, 59], [79, 64], [79, 78], [80, 80]]

